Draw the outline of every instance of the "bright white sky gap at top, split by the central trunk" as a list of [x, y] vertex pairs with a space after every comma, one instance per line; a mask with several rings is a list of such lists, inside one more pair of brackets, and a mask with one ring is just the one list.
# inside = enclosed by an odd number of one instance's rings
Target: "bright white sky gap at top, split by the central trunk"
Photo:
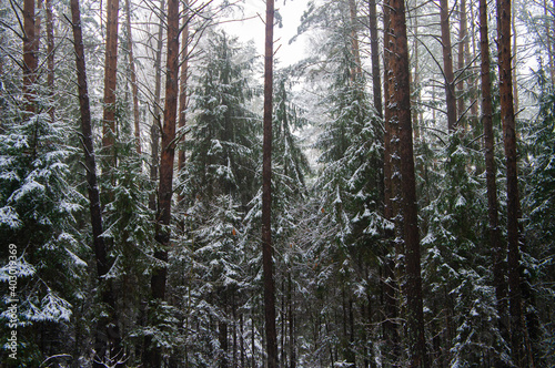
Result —
[[[289, 40], [296, 34], [296, 29], [301, 23], [301, 16], [306, 9], [307, 2], [309, 0], [286, 0], [285, 4], [283, 0], [275, 2], [275, 9], [279, 10], [283, 19], [283, 28], [274, 27], [274, 52], [280, 47], [275, 53], [276, 60], [280, 61], [278, 65], [280, 68], [295, 63], [306, 55], [305, 38], [300, 37], [291, 44], [289, 44]], [[244, 18], [248, 20], [226, 23], [225, 31], [238, 35], [242, 42], [253, 40], [256, 50], [263, 55], [265, 35], [264, 23], [261, 18], [265, 20], [266, 3], [264, 0], [245, 0], [243, 7]]]

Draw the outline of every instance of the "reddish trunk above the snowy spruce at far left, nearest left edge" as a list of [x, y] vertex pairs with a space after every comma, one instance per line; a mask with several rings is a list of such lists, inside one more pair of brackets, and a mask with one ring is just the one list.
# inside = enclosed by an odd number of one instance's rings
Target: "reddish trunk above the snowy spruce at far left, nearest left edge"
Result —
[[39, 42], [36, 35], [34, 0], [23, 1], [23, 96], [26, 111], [36, 112], [34, 83], [37, 82]]

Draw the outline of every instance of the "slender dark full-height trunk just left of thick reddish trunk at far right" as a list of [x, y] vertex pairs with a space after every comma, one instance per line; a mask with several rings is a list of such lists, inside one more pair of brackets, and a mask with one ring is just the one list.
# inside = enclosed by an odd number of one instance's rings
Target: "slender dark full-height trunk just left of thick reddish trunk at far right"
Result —
[[482, 54], [482, 122], [484, 124], [487, 216], [490, 219], [490, 243], [493, 249], [493, 278], [500, 316], [500, 330], [508, 338], [507, 320], [507, 285], [505, 283], [505, 248], [501, 242], [498, 221], [497, 184], [495, 181], [496, 165], [494, 155], [492, 80], [490, 70], [490, 41], [487, 31], [487, 1], [480, 0], [480, 48]]

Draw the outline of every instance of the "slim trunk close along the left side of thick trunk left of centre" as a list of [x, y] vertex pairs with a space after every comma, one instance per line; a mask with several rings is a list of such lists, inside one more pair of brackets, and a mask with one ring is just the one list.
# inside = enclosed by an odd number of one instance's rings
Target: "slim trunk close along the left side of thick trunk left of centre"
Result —
[[[150, 164], [150, 180], [155, 183], [158, 181], [158, 170], [160, 166], [160, 160], [158, 151], [160, 149], [160, 100], [162, 91], [162, 48], [163, 48], [163, 33], [164, 33], [164, 14], [165, 14], [165, 0], [160, 1], [160, 23], [158, 27], [158, 39], [157, 39], [157, 55], [154, 59], [154, 105], [153, 105], [153, 119], [152, 125], [150, 127], [150, 140], [151, 140], [151, 164]], [[157, 211], [157, 194], [153, 193], [149, 197], [149, 208]]]

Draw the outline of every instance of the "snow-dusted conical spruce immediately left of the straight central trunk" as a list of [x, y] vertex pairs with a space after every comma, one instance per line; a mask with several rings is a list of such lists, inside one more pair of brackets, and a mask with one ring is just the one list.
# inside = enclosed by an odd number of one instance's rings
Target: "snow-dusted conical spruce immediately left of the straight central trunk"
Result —
[[253, 173], [260, 141], [249, 102], [254, 90], [250, 71], [254, 59], [240, 52], [236, 40], [216, 32], [208, 40], [193, 112], [199, 112], [185, 144], [191, 149], [184, 175], [185, 197], [210, 202], [234, 195], [242, 205], [253, 197]]

